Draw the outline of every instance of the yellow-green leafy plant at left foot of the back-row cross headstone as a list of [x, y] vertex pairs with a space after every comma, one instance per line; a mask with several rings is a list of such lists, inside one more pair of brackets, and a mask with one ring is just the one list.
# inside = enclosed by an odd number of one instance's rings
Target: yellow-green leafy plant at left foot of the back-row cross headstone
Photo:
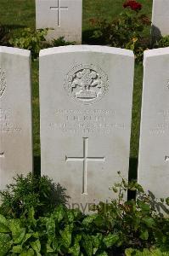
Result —
[[25, 28], [17, 38], [10, 38], [9, 44], [14, 47], [31, 50], [32, 59], [37, 59], [40, 49], [48, 47], [45, 36], [48, 29]]

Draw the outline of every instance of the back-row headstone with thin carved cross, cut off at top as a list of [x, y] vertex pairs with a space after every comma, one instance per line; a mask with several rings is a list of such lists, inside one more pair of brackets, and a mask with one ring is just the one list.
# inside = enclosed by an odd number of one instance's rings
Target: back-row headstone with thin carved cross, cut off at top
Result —
[[36, 23], [39, 28], [53, 28], [48, 39], [65, 37], [82, 43], [82, 0], [36, 0]]

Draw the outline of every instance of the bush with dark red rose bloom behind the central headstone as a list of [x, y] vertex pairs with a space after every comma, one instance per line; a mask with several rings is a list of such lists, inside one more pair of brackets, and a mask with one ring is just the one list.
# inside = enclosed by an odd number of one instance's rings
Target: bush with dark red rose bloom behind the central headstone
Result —
[[136, 60], [142, 61], [144, 49], [150, 45], [150, 38], [144, 38], [144, 30], [150, 21], [146, 15], [139, 14], [140, 4], [135, 1], [128, 1], [127, 3], [130, 3], [133, 9], [127, 8], [121, 12], [119, 18], [111, 22], [90, 20], [95, 27], [92, 37], [97, 39], [99, 44], [132, 49], [136, 55]]

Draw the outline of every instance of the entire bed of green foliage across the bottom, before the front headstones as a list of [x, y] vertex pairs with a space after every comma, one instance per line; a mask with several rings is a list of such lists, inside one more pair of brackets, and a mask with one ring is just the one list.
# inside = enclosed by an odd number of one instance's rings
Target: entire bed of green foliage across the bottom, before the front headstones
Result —
[[[61, 198], [57, 195], [51, 201], [51, 191], [57, 187], [48, 177], [42, 177], [38, 183], [36, 178], [32, 182], [31, 174], [14, 180], [6, 190], [10, 192], [1, 193], [1, 256], [169, 253], [169, 198], [157, 201], [155, 195], [145, 194], [135, 181], [127, 183], [121, 177], [121, 183], [110, 188], [117, 199], [93, 205], [93, 213], [84, 215], [79, 209], [68, 209], [62, 204], [67, 200], [65, 190], [61, 190]], [[137, 192], [136, 200], [125, 200], [128, 189]]]

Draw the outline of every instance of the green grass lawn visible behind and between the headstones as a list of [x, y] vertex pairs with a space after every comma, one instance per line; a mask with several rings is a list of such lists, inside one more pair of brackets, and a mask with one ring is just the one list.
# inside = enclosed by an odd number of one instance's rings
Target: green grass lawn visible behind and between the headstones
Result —
[[[88, 43], [91, 34], [90, 19], [111, 20], [122, 10], [123, 0], [83, 0], [83, 44]], [[152, 0], [139, 0], [143, 4], [142, 12], [151, 17]], [[23, 27], [35, 27], [35, 0], [0, 0], [0, 23], [15, 33]], [[149, 34], [149, 26], [147, 31]], [[135, 66], [135, 79], [132, 107], [132, 139], [130, 153], [130, 176], [136, 177], [138, 161], [139, 123], [142, 95], [143, 67]], [[35, 168], [40, 168], [40, 137], [39, 137], [39, 96], [38, 96], [38, 61], [32, 63], [32, 102], [33, 102], [33, 137]]]

